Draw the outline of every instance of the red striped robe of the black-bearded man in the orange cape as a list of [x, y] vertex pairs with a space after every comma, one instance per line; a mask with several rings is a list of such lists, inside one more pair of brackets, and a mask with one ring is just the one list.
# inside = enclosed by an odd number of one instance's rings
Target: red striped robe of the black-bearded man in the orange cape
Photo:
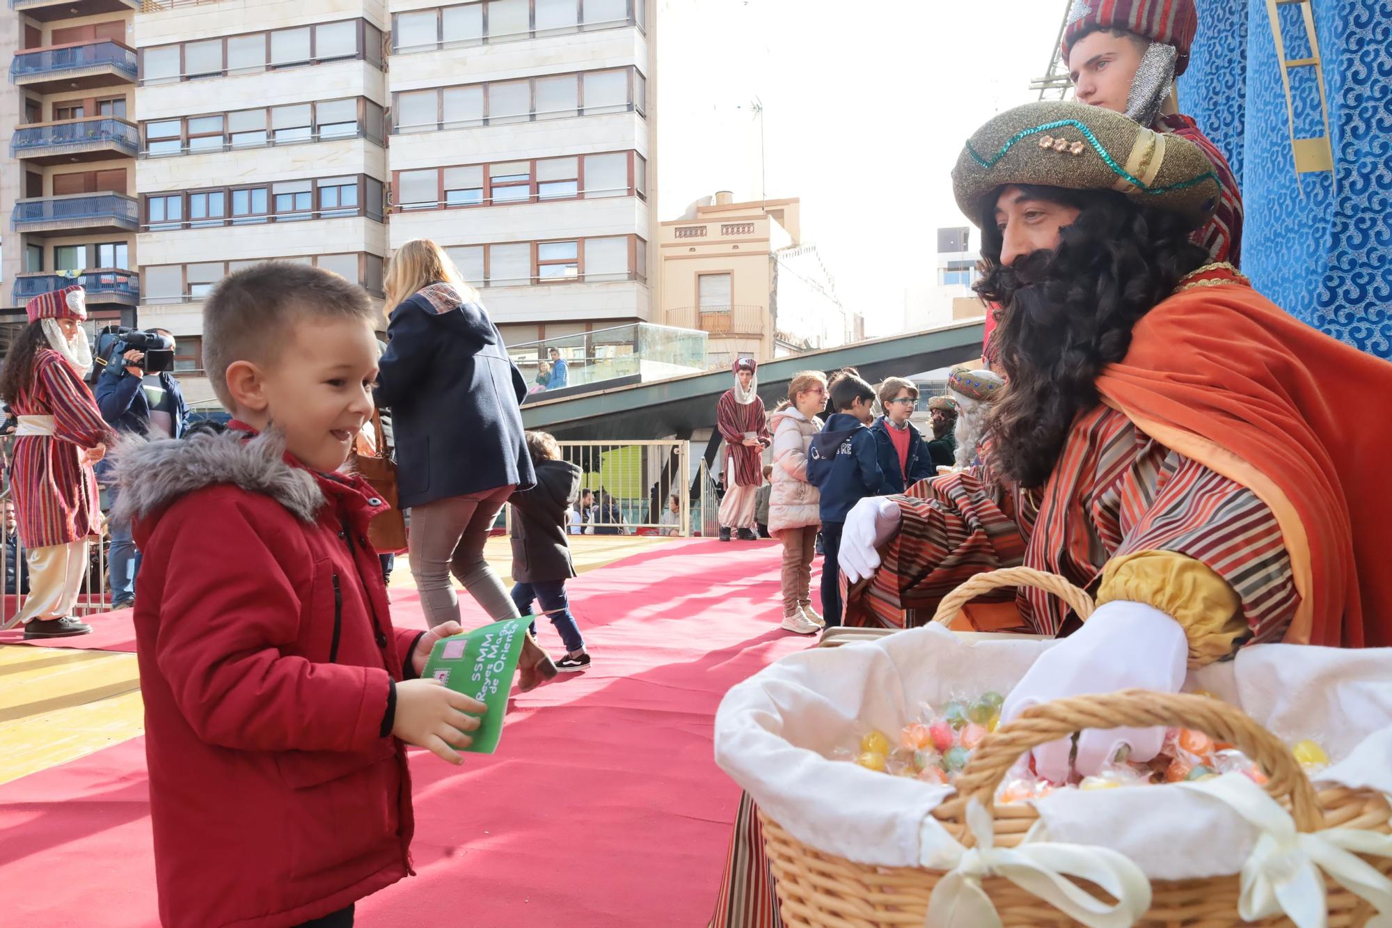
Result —
[[[1295, 616], [1290, 560], [1265, 503], [1116, 410], [1098, 405], [1079, 417], [1041, 493], [983, 478], [977, 467], [894, 497], [903, 528], [881, 552], [876, 577], [849, 599], [846, 624], [923, 624], [970, 575], [1018, 564], [1096, 592], [1107, 562], [1136, 552], [1210, 567], [1237, 594], [1247, 642], [1279, 641]], [[1016, 606], [1023, 630], [1038, 634], [1057, 635], [1069, 619], [1062, 601], [1037, 589], [1022, 591]]]

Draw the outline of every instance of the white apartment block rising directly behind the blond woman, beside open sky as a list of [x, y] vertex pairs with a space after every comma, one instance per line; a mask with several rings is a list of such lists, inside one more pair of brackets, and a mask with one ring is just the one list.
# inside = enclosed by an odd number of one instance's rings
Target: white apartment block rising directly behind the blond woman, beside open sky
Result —
[[646, 322], [653, 0], [388, 7], [390, 247], [444, 245], [509, 344]]

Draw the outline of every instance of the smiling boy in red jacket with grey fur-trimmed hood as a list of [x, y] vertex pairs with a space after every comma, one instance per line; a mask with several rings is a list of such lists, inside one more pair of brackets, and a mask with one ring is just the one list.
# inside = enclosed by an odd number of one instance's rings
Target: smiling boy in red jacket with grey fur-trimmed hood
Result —
[[393, 628], [337, 470], [372, 414], [374, 314], [317, 268], [263, 263], [203, 308], [226, 435], [122, 450], [116, 520], [143, 552], [135, 633], [160, 922], [351, 925], [412, 872], [405, 744], [454, 764], [484, 706], [415, 679], [438, 638]]

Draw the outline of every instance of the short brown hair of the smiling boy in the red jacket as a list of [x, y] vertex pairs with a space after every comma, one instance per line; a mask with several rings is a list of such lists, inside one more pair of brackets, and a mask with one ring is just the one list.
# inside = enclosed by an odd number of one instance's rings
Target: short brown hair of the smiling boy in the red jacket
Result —
[[232, 412], [227, 368], [274, 365], [305, 319], [351, 319], [376, 327], [367, 291], [322, 268], [266, 261], [223, 277], [203, 304], [203, 369]]

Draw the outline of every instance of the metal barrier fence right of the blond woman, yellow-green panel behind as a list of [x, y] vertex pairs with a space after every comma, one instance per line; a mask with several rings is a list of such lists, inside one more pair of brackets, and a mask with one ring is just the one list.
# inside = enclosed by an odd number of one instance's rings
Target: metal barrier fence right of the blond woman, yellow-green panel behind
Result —
[[[561, 457], [580, 468], [590, 506], [571, 509], [572, 535], [692, 534], [690, 442], [557, 442]], [[677, 496], [677, 511], [671, 497]], [[583, 495], [582, 495], [582, 499]], [[512, 527], [512, 507], [504, 510]]]

